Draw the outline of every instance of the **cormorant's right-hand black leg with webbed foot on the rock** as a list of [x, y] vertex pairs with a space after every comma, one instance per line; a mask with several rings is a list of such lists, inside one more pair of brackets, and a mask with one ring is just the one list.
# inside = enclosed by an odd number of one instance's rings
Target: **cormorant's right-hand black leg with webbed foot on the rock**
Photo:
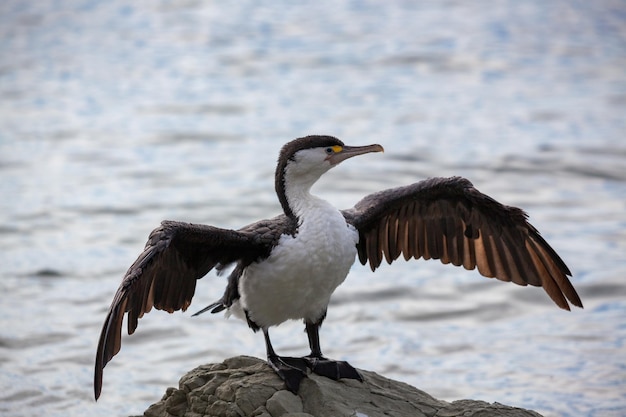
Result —
[[318, 375], [325, 376], [334, 380], [340, 378], [357, 379], [363, 382], [363, 377], [359, 372], [345, 361], [334, 361], [325, 358], [322, 355], [322, 349], [320, 348], [320, 334], [319, 328], [322, 324], [322, 320], [318, 320], [315, 323], [305, 321], [306, 333], [309, 336], [309, 346], [311, 347], [311, 354], [305, 356], [307, 366]]

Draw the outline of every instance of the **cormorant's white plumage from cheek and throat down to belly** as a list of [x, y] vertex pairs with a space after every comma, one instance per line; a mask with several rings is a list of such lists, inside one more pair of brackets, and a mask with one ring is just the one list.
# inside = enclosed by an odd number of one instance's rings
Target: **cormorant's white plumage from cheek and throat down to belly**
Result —
[[271, 255], [250, 265], [239, 281], [241, 298], [230, 311], [268, 328], [290, 319], [316, 322], [330, 296], [346, 279], [359, 234], [330, 203], [311, 195], [311, 186], [333, 167], [323, 149], [295, 154], [285, 169], [287, 200], [299, 219], [295, 236], [283, 235]]

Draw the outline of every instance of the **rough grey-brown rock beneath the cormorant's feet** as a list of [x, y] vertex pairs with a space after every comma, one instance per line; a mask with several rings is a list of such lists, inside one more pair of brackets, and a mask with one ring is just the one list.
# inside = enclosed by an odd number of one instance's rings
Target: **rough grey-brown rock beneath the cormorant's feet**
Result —
[[298, 395], [261, 359], [239, 356], [199, 366], [168, 388], [145, 417], [541, 417], [483, 401], [448, 403], [403, 382], [359, 370], [365, 382], [309, 374]]

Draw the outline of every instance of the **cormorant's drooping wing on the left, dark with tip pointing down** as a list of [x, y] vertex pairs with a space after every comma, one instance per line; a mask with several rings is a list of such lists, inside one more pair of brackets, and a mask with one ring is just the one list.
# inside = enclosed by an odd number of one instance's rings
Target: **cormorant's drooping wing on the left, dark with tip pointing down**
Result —
[[219, 265], [249, 265], [269, 256], [284, 219], [255, 223], [238, 231], [164, 221], [150, 234], [144, 251], [126, 272], [107, 313], [96, 354], [94, 393], [102, 390], [102, 371], [119, 352], [122, 320], [128, 313], [128, 334], [152, 307], [170, 313], [186, 310], [196, 280]]

